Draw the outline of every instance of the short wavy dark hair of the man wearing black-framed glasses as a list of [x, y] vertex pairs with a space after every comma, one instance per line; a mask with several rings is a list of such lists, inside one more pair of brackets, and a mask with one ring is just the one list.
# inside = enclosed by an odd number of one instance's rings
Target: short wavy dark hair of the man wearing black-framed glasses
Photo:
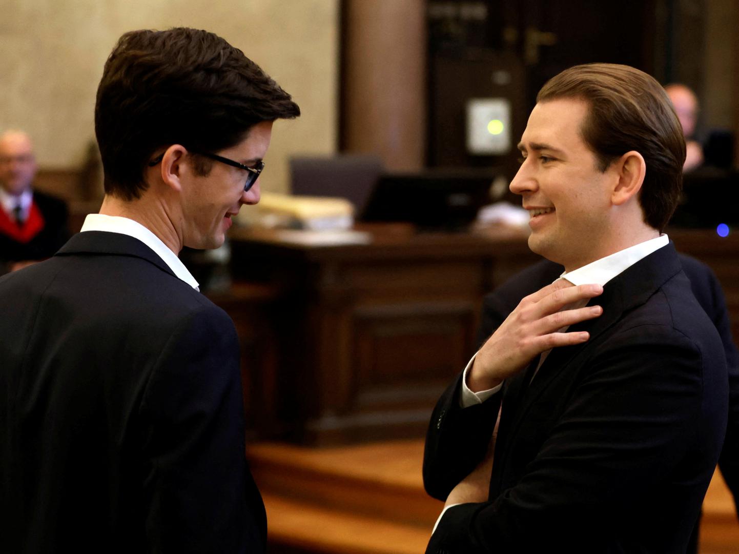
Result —
[[287, 92], [214, 33], [130, 31], [106, 61], [95, 104], [105, 192], [140, 197], [146, 164], [163, 146], [217, 152], [261, 121], [298, 115]]

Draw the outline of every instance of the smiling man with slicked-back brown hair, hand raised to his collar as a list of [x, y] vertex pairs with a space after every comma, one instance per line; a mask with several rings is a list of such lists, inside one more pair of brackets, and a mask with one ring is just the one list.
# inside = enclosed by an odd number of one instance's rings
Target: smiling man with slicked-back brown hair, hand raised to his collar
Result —
[[685, 142], [664, 89], [615, 64], [539, 91], [511, 191], [564, 267], [443, 394], [429, 554], [684, 553], [721, 453], [723, 344], [664, 227]]

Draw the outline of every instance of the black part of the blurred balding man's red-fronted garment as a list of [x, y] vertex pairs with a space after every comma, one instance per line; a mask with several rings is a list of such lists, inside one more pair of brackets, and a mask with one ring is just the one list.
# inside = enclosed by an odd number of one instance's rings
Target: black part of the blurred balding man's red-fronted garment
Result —
[[43, 228], [25, 243], [0, 231], [0, 262], [44, 260], [52, 257], [67, 242], [67, 204], [38, 191], [33, 192], [33, 202], [44, 219]]

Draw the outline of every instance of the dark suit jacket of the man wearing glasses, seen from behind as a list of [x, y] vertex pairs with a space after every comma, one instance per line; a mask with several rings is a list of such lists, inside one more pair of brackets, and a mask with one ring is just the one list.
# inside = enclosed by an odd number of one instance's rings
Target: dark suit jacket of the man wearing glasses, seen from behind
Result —
[[0, 551], [255, 553], [233, 322], [132, 237], [0, 277]]

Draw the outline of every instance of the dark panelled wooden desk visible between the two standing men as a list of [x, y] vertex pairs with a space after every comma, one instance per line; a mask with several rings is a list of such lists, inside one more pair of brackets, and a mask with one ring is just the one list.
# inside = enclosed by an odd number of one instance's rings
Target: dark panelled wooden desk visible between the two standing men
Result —
[[423, 436], [474, 351], [483, 295], [538, 258], [520, 233], [371, 229], [344, 246], [231, 235], [234, 280], [281, 291], [263, 322], [279, 362], [257, 425], [311, 444]]

